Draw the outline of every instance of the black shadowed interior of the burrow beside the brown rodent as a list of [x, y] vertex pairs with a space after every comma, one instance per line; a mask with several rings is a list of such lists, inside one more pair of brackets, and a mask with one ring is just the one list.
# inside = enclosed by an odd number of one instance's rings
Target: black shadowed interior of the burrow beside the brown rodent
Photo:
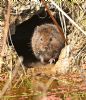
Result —
[[[40, 18], [37, 13], [29, 20], [23, 22], [20, 25], [16, 26], [16, 32], [14, 35], [12, 35], [12, 42], [14, 44], [14, 47], [18, 53], [19, 56], [22, 56], [24, 61], [23, 64], [27, 66], [27, 64], [31, 64], [33, 62], [37, 62], [38, 60], [35, 58], [32, 49], [31, 49], [31, 37], [34, 32], [34, 28], [37, 25], [41, 25], [44, 23], [53, 23], [50, 16], [47, 14], [45, 18]], [[59, 18], [57, 16], [57, 21], [60, 23]]]

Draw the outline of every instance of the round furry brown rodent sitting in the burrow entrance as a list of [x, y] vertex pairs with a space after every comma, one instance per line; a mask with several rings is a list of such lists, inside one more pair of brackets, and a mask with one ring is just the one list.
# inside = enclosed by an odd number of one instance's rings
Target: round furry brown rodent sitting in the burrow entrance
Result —
[[58, 33], [57, 27], [53, 24], [43, 24], [34, 30], [31, 45], [34, 55], [42, 63], [52, 63], [58, 59], [65, 40]]

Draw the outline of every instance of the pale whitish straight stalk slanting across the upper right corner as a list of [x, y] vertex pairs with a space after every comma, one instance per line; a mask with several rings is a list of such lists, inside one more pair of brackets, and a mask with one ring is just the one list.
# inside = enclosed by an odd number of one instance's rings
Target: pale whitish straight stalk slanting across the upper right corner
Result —
[[75, 25], [83, 34], [86, 35], [86, 32], [81, 29], [81, 27], [78, 26], [78, 24], [76, 24], [53, 0], [50, 0], [51, 3], [67, 18], [70, 20], [70, 22]]

